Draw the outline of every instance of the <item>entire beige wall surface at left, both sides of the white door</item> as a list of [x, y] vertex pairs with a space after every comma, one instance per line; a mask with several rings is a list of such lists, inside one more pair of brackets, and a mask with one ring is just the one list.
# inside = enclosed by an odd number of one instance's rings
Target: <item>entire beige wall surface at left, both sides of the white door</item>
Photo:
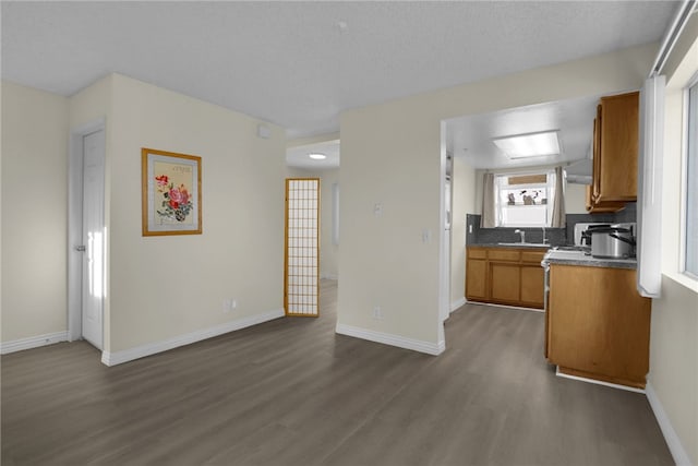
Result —
[[[256, 119], [118, 74], [70, 99], [4, 82], [2, 97], [3, 343], [67, 330], [68, 136], [98, 119], [105, 350], [282, 308], [282, 129], [263, 140]], [[141, 236], [141, 147], [202, 157], [203, 235]], [[229, 298], [238, 307], [224, 313]]]

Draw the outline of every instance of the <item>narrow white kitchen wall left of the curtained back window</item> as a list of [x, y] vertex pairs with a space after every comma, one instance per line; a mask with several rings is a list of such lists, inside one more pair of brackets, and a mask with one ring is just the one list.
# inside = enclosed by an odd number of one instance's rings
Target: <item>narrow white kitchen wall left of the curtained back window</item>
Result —
[[450, 304], [466, 299], [466, 215], [476, 210], [476, 170], [462, 157], [454, 157], [453, 223], [450, 227]]

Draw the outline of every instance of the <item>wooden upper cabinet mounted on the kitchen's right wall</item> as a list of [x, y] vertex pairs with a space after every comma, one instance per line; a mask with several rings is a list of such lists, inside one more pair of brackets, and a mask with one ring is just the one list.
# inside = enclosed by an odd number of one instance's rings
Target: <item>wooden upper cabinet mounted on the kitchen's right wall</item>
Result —
[[639, 93], [602, 97], [593, 122], [593, 176], [587, 211], [615, 212], [637, 200]]

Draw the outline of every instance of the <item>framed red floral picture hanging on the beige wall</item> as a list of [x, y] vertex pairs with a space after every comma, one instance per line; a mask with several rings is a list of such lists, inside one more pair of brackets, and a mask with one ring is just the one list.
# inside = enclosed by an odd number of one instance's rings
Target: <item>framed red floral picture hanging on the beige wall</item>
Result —
[[201, 157], [141, 150], [143, 236], [201, 235]]

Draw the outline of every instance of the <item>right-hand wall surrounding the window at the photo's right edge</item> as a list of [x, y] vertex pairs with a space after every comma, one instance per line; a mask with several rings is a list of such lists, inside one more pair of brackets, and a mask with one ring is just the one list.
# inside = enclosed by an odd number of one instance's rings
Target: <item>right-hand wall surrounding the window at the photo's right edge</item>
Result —
[[[698, 465], [698, 280], [679, 273], [682, 91], [698, 71], [698, 17], [670, 60], [662, 187], [662, 297], [652, 300], [649, 384], [691, 464]], [[671, 443], [670, 443], [671, 445]], [[679, 459], [679, 458], [675, 458]]]

